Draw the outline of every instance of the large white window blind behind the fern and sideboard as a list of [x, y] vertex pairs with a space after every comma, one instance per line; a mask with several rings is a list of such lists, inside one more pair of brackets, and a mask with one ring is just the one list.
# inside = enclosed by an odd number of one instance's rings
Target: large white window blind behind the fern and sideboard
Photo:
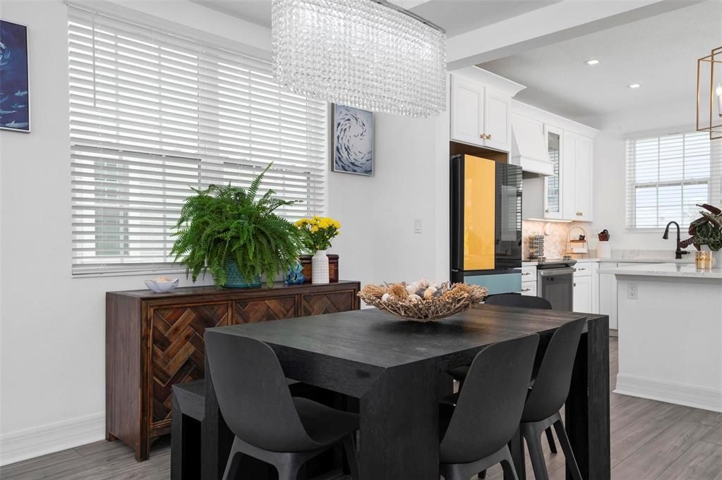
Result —
[[[168, 268], [191, 187], [264, 187], [323, 213], [326, 104], [233, 48], [69, 7], [74, 275]], [[262, 192], [261, 192], [262, 193]]]

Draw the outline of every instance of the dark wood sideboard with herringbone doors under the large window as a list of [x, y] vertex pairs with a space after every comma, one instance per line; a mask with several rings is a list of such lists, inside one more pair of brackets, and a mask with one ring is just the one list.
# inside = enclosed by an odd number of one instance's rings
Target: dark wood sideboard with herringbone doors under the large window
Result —
[[358, 282], [105, 294], [105, 432], [147, 460], [170, 433], [171, 386], [204, 378], [206, 328], [358, 310]]

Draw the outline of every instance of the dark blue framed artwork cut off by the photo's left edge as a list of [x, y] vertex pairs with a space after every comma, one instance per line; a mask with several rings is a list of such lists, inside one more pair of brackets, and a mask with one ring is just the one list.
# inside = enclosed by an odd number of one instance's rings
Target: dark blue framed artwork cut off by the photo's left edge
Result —
[[0, 20], [0, 128], [30, 132], [27, 27]]

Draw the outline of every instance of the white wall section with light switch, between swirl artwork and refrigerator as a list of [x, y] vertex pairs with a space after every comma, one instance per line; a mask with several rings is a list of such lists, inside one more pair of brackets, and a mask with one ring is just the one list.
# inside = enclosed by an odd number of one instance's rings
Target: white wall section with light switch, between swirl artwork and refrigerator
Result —
[[341, 275], [362, 283], [435, 275], [436, 120], [377, 113], [374, 123], [373, 177], [329, 174], [329, 215], [343, 226], [331, 249]]

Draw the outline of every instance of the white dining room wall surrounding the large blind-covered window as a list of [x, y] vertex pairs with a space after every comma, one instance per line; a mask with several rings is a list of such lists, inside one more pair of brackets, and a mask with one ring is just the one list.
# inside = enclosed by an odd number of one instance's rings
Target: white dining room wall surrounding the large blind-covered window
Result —
[[[186, 1], [115, 1], [270, 48], [269, 30]], [[71, 277], [66, 6], [2, 0], [0, 14], [28, 27], [32, 94], [32, 133], [0, 132], [0, 463], [10, 463], [104, 437], [105, 291], [143, 288], [145, 276]], [[448, 275], [443, 125], [376, 115], [374, 176], [329, 173], [344, 279]]]

